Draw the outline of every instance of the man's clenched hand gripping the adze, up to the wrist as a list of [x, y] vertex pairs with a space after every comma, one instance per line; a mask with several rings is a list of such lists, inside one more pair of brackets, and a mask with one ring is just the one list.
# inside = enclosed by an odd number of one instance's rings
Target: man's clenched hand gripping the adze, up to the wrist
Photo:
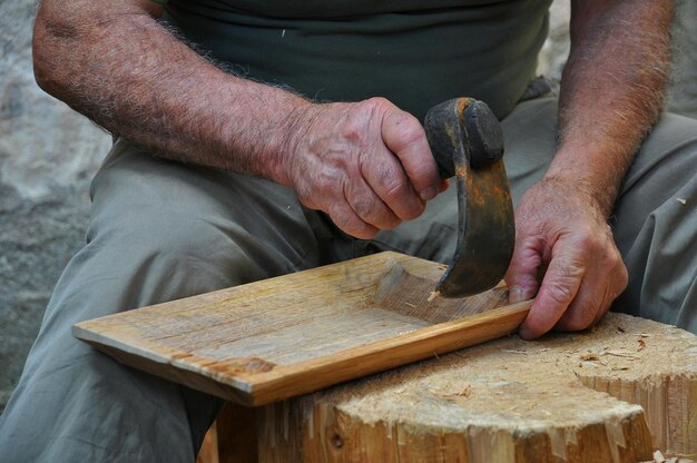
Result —
[[419, 120], [385, 99], [311, 105], [300, 120], [281, 181], [350, 235], [418, 217], [444, 186]]

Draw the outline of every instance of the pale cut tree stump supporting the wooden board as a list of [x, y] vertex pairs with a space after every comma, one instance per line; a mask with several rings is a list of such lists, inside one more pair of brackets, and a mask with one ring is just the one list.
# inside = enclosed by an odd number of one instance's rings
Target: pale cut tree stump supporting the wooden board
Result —
[[590, 332], [512, 336], [267, 405], [256, 430], [220, 462], [695, 459], [697, 336], [608, 314]]

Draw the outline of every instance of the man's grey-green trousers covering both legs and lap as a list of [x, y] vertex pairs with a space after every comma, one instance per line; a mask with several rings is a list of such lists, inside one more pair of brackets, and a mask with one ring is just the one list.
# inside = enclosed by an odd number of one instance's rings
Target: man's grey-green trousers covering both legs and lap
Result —
[[[502, 126], [517, 201], [553, 156], [556, 100], [521, 104]], [[691, 331], [697, 331], [695, 134], [697, 121], [664, 119], [630, 169], [612, 217], [630, 270], [630, 287], [615, 308]], [[59, 460], [116, 452], [130, 461], [147, 460], [149, 445], [157, 445], [190, 459], [203, 437], [219, 402], [117, 365], [72, 338], [73, 323], [374, 250], [445, 262], [455, 243], [454, 188], [419, 219], [371, 242], [353, 240], [322, 214], [303, 208], [287, 188], [159, 160], [124, 141], [95, 178], [92, 196], [88, 244], [58, 283], [20, 394], [0, 420], [0, 454], [11, 445], [35, 457], [52, 450]], [[95, 431], [95, 423], [107, 427]], [[0, 460], [18, 455], [28, 456]]]

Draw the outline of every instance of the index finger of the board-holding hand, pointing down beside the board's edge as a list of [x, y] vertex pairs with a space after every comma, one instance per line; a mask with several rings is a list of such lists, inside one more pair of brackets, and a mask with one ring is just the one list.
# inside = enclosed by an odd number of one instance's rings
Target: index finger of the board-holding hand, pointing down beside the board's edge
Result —
[[[558, 243], [558, 246], [561, 245]], [[568, 257], [568, 253], [561, 249], [557, 257], [552, 256], [530, 313], [520, 327], [523, 339], [534, 339], [554, 327], [576, 297], [586, 268]]]

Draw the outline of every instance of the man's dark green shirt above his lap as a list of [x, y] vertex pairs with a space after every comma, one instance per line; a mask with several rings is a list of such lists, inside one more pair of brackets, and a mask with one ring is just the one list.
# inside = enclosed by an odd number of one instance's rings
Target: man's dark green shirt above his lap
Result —
[[469, 96], [503, 117], [534, 77], [551, 0], [169, 0], [164, 18], [245, 77], [420, 119]]

